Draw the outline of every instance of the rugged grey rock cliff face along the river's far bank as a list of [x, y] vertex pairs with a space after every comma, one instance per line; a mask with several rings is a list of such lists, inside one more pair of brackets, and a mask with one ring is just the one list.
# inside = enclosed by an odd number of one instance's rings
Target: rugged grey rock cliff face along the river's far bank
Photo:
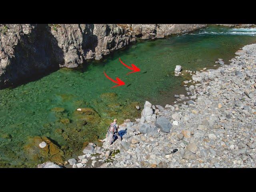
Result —
[[206, 24], [0, 24], [0, 88], [59, 67], [100, 60], [136, 38], [164, 38]]

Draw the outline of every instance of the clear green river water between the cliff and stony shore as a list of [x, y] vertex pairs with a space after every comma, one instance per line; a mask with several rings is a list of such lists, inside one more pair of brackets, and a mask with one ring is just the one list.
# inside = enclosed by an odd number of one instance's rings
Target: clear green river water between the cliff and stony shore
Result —
[[[35, 167], [47, 157], [31, 158], [24, 149], [34, 136], [46, 136], [64, 152], [64, 159], [81, 153], [83, 145], [104, 138], [108, 123], [118, 118], [136, 118], [135, 109], [145, 100], [152, 104], [170, 104], [177, 92], [184, 92], [184, 77], [174, 76], [174, 68], [183, 70], [214, 68], [215, 60], [225, 63], [234, 52], [256, 42], [255, 29], [208, 27], [181, 36], [134, 43], [92, 61], [82, 69], [60, 69], [34, 82], [13, 89], [0, 90], [0, 167]], [[130, 72], [118, 58], [141, 71]], [[110, 89], [114, 83], [106, 79], [119, 77], [126, 85]], [[104, 93], [113, 92], [117, 96]], [[54, 112], [55, 107], [64, 108]], [[81, 123], [77, 108], [93, 108], [95, 114]], [[63, 121], [69, 119], [69, 122]], [[63, 123], [64, 122], [64, 123]]]

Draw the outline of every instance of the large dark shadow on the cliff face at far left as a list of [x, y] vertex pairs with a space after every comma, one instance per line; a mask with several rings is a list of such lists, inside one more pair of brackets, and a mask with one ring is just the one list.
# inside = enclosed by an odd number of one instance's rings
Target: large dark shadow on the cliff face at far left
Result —
[[38, 24], [31, 33], [22, 34], [17, 40], [14, 57], [10, 57], [10, 64], [1, 76], [1, 89], [38, 80], [64, 63], [64, 52], [47, 24]]

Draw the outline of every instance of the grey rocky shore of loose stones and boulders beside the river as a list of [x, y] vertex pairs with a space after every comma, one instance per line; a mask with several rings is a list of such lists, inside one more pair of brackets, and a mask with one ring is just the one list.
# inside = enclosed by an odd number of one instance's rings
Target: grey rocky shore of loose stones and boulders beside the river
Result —
[[176, 95], [174, 105], [146, 101], [140, 119], [119, 125], [122, 141], [89, 143], [66, 167], [256, 167], [256, 44], [236, 55], [216, 70], [190, 73], [187, 96]]

